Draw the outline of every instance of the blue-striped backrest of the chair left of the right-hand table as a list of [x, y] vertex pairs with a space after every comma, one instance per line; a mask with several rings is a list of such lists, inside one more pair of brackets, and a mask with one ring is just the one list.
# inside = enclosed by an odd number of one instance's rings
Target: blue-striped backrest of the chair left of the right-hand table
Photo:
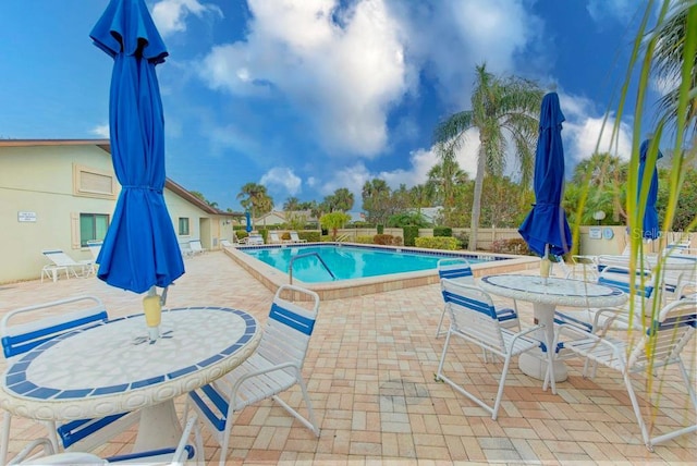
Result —
[[451, 329], [480, 346], [505, 353], [491, 296], [478, 286], [451, 279], [440, 281]]

